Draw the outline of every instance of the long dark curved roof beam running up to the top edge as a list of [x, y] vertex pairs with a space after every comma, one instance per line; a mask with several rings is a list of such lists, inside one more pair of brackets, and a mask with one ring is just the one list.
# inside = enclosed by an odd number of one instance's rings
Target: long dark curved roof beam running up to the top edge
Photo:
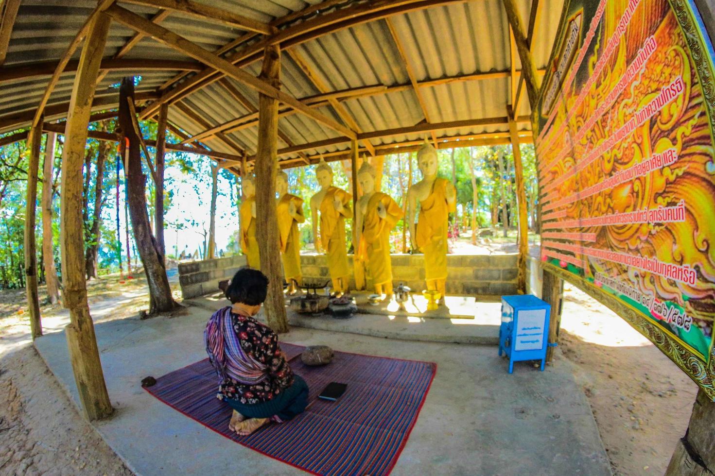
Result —
[[[350, 28], [358, 24], [368, 23], [388, 16], [405, 14], [410, 11], [428, 9], [438, 5], [463, 3], [465, 0], [375, 0], [355, 6], [346, 7], [322, 14], [313, 18], [301, 21], [276, 34], [266, 36], [254, 44], [246, 46], [228, 58], [228, 61], [237, 66], [247, 66], [262, 59], [265, 46], [280, 44], [281, 49], [287, 49], [305, 41], [319, 38], [327, 34], [335, 33], [341, 29]], [[324, 2], [325, 3], [325, 2]], [[317, 4], [320, 6], [321, 4]], [[184, 96], [200, 89], [213, 81], [217, 81], [225, 76], [221, 71], [209, 67], [187, 81], [182, 82], [177, 87], [166, 91], [158, 101], [149, 105], [147, 116], [158, 111], [159, 104], [163, 102], [172, 103], [182, 99]]]

